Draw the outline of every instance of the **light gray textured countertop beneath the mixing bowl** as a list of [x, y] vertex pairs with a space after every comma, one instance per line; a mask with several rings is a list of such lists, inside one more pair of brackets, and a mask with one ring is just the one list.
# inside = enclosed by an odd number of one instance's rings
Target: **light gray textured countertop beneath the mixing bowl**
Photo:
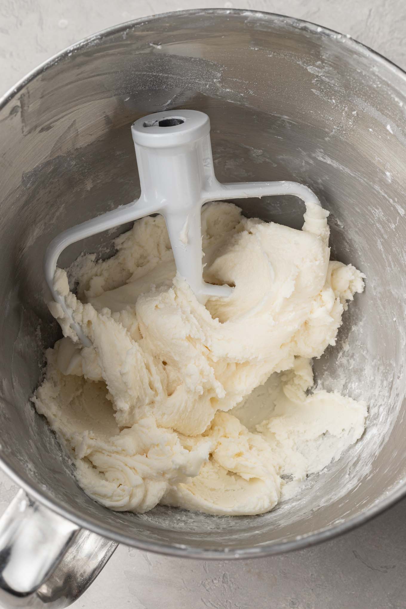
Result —
[[[308, 19], [406, 69], [405, 0], [0, 0], [0, 94], [97, 30], [168, 10], [234, 7]], [[17, 487], [0, 473], [0, 513]], [[203, 562], [120, 546], [83, 609], [404, 609], [406, 500], [347, 535], [272, 558]]]

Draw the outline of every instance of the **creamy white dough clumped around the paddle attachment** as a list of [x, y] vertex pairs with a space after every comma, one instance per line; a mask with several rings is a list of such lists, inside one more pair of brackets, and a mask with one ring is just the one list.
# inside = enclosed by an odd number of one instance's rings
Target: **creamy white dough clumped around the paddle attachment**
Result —
[[329, 261], [327, 216], [307, 205], [293, 230], [205, 206], [204, 278], [235, 286], [206, 307], [176, 274], [161, 216], [117, 238], [112, 258], [82, 258], [77, 297], [57, 270], [93, 346], [51, 303], [65, 338], [32, 399], [89, 496], [113, 510], [263, 513], [362, 435], [365, 403], [309, 393], [310, 360], [335, 344], [363, 290], [359, 270]]

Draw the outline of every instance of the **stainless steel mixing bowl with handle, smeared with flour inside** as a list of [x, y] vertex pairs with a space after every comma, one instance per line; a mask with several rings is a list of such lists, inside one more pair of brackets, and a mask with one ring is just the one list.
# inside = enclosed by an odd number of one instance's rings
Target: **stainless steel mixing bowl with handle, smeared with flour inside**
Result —
[[[79, 488], [29, 403], [43, 347], [59, 333], [44, 305], [44, 249], [61, 230], [138, 196], [130, 124], [168, 108], [209, 114], [219, 180], [310, 186], [331, 212], [332, 256], [366, 274], [337, 347], [315, 370], [326, 389], [368, 401], [368, 428], [303, 493], [261, 516], [110, 512]], [[399, 68], [331, 30], [239, 10], [113, 27], [52, 58], [2, 100], [0, 456], [24, 488], [0, 531], [9, 604], [69, 604], [113, 551], [106, 540], [185, 557], [264, 556], [331, 538], [404, 495], [405, 128]], [[293, 198], [239, 205], [249, 216], [302, 222]], [[76, 244], [61, 262], [110, 240]], [[38, 552], [38, 535], [46, 551]], [[20, 582], [22, 564], [30, 577]]]

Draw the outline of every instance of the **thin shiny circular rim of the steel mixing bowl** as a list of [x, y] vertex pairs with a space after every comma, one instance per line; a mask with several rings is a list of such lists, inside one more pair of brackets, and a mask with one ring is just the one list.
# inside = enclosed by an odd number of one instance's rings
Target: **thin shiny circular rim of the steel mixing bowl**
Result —
[[[320, 37], [335, 38], [336, 40], [341, 41], [341, 43], [346, 43], [347, 46], [352, 46], [354, 49], [357, 49], [358, 52], [361, 52], [365, 57], [368, 57], [369, 59], [373, 59], [375, 63], [379, 63], [385, 69], [389, 69], [389, 71], [392, 72], [394, 77], [400, 77], [401, 80], [404, 81], [406, 90], [406, 72], [404, 70], [399, 68], [399, 66], [388, 60], [383, 55], [379, 54], [379, 52], [373, 51], [373, 49], [369, 48], [363, 43], [360, 43], [357, 40], [354, 40], [354, 38], [351, 38], [349, 35], [341, 34], [340, 32], [336, 32], [335, 30], [319, 26], [303, 19], [296, 19], [285, 15], [279, 15], [278, 13], [270, 13], [261, 10], [191, 9], [169, 11], [165, 13], [158, 13], [152, 16], [133, 19], [131, 21], [116, 24], [114, 26], [100, 30], [99, 32], [94, 33], [93, 35], [82, 38], [82, 40], [79, 40], [77, 43], [74, 43], [71, 46], [68, 46], [62, 51], [53, 55], [52, 57], [38, 65], [37, 68], [28, 72], [28, 74], [22, 79], [18, 80], [18, 82], [14, 86], [12, 86], [4, 95], [0, 97], [0, 110], [2, 110], [4, 107], [6, 107], [7, 104], [9, 104], [9, 102], [15, 99], [15, 97], [18, 96], [21, 90], [23, 90], [24, 86], [35, 80], [38, 76], [40, 76], [40, 74], [55, 65], [55, 63], [58, 63], [62, 59], [68, 58], [70, 55], [72, 55], [72, 53], [79, 51], [82, 48], [86, 48], [87, 46], [93, 46], [95, 43], [97, 44], [97, 41], [99, 40], [102, 41], [110, 37], [111, 35], [116, 35], [117, 33], [124, 33], [128, 30], [134, 30], [138, 26], [142, 26], [146, 23], [159, 21], [163, 18], [167, 18], [168, 16], [189, 16], [191, 18], [194, 18], [198, 16], [210, 15], [229, 15], [237, 18], [253, 16], [258, 19], [273, 22], [281, 21], [282, 23], [288, 23], [292, 27], [306, 30], [309, 33], [319, 35]], [[45, 505], [48, 509], [52, 510], [52, 512], [56, 512], [60, 516], [65, 517], [66, 519], [77, 524], [80, 527], [83, 527], [83, 529], [88, 529], [94, 533], [97, 533], [98, 535], [101, 535], [102, 537], [114, 540], [117, 543], [125, 544], [126, 546], [136, 547], [140, 550], [155, 552], [157, 554], [169, 555], [174, 557], [201, 558], [203, 560], [227, 560], [236, 558], [266, 557], [276, 554], [282, 554], [284, 552], [290, 552], [296, 549], [303, 549], [305, 547], [320, 543], [321, 541], [331, 540], [332, 538], [337, 537], [338, 535], [342, 535], [343, 533], [354, 529], [360, 524], [366, 523], [369, 519], [374, 518], [375, 516], [384, 512], [392, 505], [396, 504], [396, 502], [404, 498], [404, 496], [406, 496], [406, 481], [401, 480], [396, 485], [394, 485], [394, 487], [390, 491], [387, 491], [387, 496], [380, 499], [379, 501], [376, 501], [368, 509], [361, 510], [355, 516], [352, 516], [352, 518], [349, 518], [344, 522], [336, 523], [332, 526], [324, 527], [323, 529], [319, 529], [311, 533], [307, 533], [305, 535], [300, 535], [294, 540], [290, 541], [281, 540], [278, 542], [270, 542], [264, 544], [263, 546], [261, 545], [241, 548], [226, 547], [224, 549], [219, 550], [210, 548], [197, 548], [187, 546], [185, 544], [169, 544], [161, 543], [158, 541], [138, 540], [134, 537], [131, 537], [131, 535], [125, 535], [121, 533], [119, 530], [117, 530], [114, 526], [110, 524], [100, 524], [99, 519], [94, 518], [90, 515], [83, 515], [79, 510], [67, 507], [63, 503], [63, 501], [52, 498], [51, 494], [41, 488], [39, 484], [36, 484], [34, 481], [29, 480], [28, 477], [26, 479], [22, 477], [21, 474], [19, 474], [12, 466], [12, 464], [8, 462], [7, 457], [1, 454], [1, 451], [0, 467], [4, 471], [4, 473], [7, 474], [10, 479], [12, 479], [13, 482], [18, 484], [19, 487], [23, 488], [32, 498]]]

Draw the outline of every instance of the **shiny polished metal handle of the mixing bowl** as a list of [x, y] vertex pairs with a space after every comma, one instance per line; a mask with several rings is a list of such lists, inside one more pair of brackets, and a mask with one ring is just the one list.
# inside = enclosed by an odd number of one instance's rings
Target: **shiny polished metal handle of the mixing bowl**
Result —
[[0, 518], [0, 605], [68, 607], [117, 547], [19, 490]]

